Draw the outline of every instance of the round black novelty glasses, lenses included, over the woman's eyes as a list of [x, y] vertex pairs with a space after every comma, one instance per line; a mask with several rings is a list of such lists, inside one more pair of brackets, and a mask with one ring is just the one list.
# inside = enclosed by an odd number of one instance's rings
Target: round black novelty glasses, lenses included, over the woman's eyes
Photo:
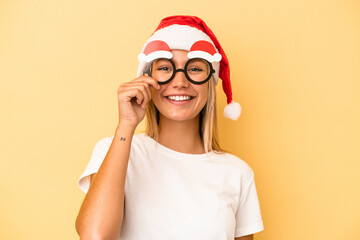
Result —
[[200, 85], [209, 81], [215, 70], [212, 64], [203, 58], [189, 59], [183, 69], [176, 69], [171, 59], [158, 58], [150, 62], [145, 69], [145, 73], [157, 80], [159, 84], [169, 83], [177, 72], [183, 72], [189, 82]]

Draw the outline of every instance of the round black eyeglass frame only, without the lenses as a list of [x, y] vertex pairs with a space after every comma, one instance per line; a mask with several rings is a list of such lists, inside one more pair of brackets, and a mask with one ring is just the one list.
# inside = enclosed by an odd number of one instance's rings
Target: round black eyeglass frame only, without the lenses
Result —
[[[184, 75], [185, 75], [185, 77], [186, 77], [186, 79], [187, 79], [189, 82], [191, 82], [192, 84], [201, 85], [201, 84], [204, 84], [204, 83], [206, 83], [207, 81], [209, 81], [209, 79], [211, 78], [211, 76], [216, 72], [215, 69], [213, 68], [212, 64], [211, 64], [208, 60], [206, 60], [206, 59], [204, 59], [204, 58], [191, 58], [191, 59], [189, 59], [189, 60], [186, 61], [184, 68], [176, 68], [174, 61], [173, 61], [172, 59], [170, 59], [170, 58], [157, 58], [157, 59], [152, 60], [152, 61], [148, 64], [148, 66], [146, 67], [144, 73], [147, 73], [148, 76], [152, 77], [152, 76], [151, 76], [151, 73], [150, 73], [150, 68], [151, 68], [152, 63], [153, 63], [155, 60], [158, 60], [158, 59], [166, 59], [166, 60], [168, 60], [168, 61], [171, 63], [173, 69], [174, 69], [174, 70], [173, 70], [173, 74], [172, 74], [172, 76], [169, 78], [169, 80], [166, 80], [165, 82], [159, 82], [159, 81], [157, 81], [160, 85], [167, 84], [167, 83], [171, 82], [171, 80], [174, 79], [174, 77], [175, 77], [175, 75], [176, 75], [177, 72], [183, 72]], [[210, 66], [209, 76], [208, 76], [205, 80], [203, 80], [203, 81], [201, 81], [201, 82], [197, 82], [197, 81], [192, 80], [192, 79], [189, 77], [189, 75], [187, 74], [187, 72], [185, 71], [185, 69], [187, 68], [187, 66], [189, 65], [189, 63], [190, 63], [192, 60], [194, 60], [194, 59], [204, 60], [204, 61], [206, 61], [207, 64]]]

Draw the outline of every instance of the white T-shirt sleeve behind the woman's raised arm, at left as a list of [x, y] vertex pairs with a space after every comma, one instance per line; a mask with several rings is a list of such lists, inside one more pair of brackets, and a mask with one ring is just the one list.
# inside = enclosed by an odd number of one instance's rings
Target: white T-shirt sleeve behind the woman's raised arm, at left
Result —
[[99, 170], [101, 163], [103, 162], [110, 148], [112, 139], [113, 137], [105, 137], [95, 144], [90, 161], [88, 162], [85, 171], [78, 180], [78, 186], [85, 193], [87, 193], [90, 187], [90, 175], [96, 173]]

